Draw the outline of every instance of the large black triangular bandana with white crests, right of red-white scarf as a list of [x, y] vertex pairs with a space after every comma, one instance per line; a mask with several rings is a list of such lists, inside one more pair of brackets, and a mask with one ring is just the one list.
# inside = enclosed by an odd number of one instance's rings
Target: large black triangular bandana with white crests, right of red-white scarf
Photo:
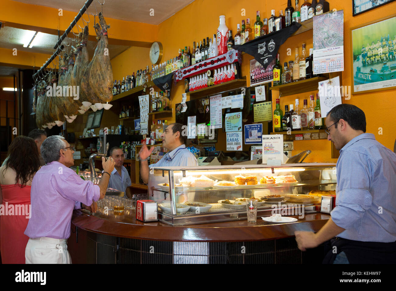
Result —
[[289, 27], [260, 36], [246, 44], [232, 46], [232, 48], [252, 55], [261, 65], [267, 68], [275, 59], [279, 47], [300, 27], [300, 23], [293, 22]]

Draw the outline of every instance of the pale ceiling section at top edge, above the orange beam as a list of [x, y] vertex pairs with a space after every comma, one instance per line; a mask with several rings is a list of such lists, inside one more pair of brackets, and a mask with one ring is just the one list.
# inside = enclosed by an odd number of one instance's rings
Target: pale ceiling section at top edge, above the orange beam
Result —
[[[37, 0], [14, 0], [27, 4], [37, 5]], [[100, 0], [103, 5], [103, 16], [107, 18], [121, 19], [125, 21], [143, 22], [158, 25], [168, 19], [176, 12], [182, 10], [194, 0]], [[40, 0], [40, 6], [51, 8], [62, 8], [63, 10], [78, 12], [86, 0]], [[101, 5], [94, 0], [88, 11], [95, 14], [95, 4], [97, 11]], [[154, 16], [150, 16], [150, 9], [154, 9]]]

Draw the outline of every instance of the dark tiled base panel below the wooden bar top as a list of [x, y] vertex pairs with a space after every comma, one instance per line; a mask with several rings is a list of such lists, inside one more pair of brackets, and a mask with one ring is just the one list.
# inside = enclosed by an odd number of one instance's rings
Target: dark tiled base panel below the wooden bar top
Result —
[[[324, 258], [323, 245], [301, 252], [294, 237], [255, 242], [163, 242], [119, 238], [78, 228], [75, 247], [85, 244], [90, 256], [88, 258], [87, 255], [85, 262], [81, 256], [78, 257], [80, 263], [321, 264]], [[79, 253], [81, 251], [78, 250]]]

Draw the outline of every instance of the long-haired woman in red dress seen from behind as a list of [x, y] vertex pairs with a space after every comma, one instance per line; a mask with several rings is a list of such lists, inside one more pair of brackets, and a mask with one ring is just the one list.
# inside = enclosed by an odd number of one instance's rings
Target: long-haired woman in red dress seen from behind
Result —
[[38, 149], [30, 137], [18, 136], [0, 167], [0, 251], [3, 264], [25, 264], [29, 238], [23, 234], [30, 217], [30, 188], [40, 169]]

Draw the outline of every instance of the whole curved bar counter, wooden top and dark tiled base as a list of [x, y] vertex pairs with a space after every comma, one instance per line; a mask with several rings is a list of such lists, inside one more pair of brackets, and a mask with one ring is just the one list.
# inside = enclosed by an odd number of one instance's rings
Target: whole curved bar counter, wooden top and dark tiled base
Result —
[[73, 263], [321, 263], [324, 246], [301, 252], [294, 232], [317, 232], [329, 218], [308, 213], [286, 224], [257, 217], [255, 224], [170, 226], [138, 221], [134, 211], [106, 217], [75, 210], [68, 249]]

